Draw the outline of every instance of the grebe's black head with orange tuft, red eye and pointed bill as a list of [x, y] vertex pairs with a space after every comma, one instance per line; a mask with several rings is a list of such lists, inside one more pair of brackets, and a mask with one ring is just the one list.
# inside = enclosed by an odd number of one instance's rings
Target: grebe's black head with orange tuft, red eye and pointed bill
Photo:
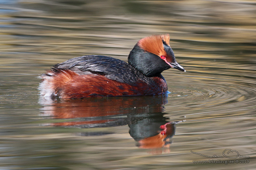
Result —
[[169, 40], [168, 34], [141, 39], [130, 52], [128, 63], [148, 77], [158, 76], [169, 68], [185, 71], [176, 62]]

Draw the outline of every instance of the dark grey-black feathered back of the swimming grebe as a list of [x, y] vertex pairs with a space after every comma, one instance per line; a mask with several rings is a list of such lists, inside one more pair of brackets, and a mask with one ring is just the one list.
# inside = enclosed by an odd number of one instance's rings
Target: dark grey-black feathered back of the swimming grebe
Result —
[[130, 64], [108, 56], [88, 55], [72, 58], [54, 68], [68, 69], [82, 75], [104, 75], [108, 79], [133, 85], [139, 80], [149, 81], [142, 73]]

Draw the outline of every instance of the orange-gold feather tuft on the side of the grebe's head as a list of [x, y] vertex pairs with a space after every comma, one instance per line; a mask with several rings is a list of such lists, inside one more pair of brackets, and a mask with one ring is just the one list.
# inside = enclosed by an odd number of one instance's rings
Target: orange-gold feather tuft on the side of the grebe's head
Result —
[[166, 52], [163, 48], [163, 41], [169, 45], [170, 36], [169, 34], [152, 35], [145, 37], [138, 42], [138, 45], [143, 50], [156, 54], [157, 56], [166, 56]]

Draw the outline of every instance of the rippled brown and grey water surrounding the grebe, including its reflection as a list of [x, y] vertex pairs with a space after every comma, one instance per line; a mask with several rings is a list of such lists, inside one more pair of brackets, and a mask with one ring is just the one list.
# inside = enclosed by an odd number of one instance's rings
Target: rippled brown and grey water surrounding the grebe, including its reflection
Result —
[[[169, 95], [40, 99], [53, 64], [159, 33], [187, 71], [163, 72]], [[0, 168], [254, 169], [255, 46], [255, 0], [0, 0]]]

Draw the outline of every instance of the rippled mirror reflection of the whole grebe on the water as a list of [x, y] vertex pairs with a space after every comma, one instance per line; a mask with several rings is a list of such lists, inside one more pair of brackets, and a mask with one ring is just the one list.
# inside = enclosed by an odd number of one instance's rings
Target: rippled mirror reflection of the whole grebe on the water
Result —
[[[169, 147], [176, 122], [164, 117], [167, 95], [127, 98], [87, 98], [43, 104], [42, 111], [53, 119], [65, 119], [48, 125], [64, 127], [130, 127], [129, 133], [144, 149]], [[44, 106], [45, 105], [45, 106]], [[76, 118], [78, 121], [74, 121]], [[69, 119], [72, 119], [69, 121]], [[104, 132], [84, 135], [102, 135]]]

